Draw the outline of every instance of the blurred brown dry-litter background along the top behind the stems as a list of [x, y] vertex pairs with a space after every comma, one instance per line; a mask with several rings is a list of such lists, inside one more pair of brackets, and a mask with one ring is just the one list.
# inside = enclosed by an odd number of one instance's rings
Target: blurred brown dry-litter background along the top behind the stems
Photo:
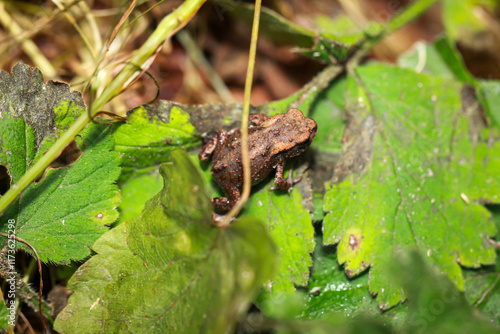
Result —
[[[384, 22], [390, 19], [411, 2], [264, 0], [263, 6], [298, 25], [317, 29], [318, 15], [328, 18], [347, 15], [363, 27], [372, 20]], [[46, 79], [68, 81], [75, 90], [83, 90], [89, 80], [103, 87], [120, 70], [130, 53], [142, 45], [160, 20], [180, 3], [182, 1], [177, 0], [163, 3], [138, 1], [128, 19], [128, 22], [135, 21], [118, 33], [106, 57], [99, 63], [99, 55], [112, 29], [126, 10], [123, 1], [0, 2], [0, 68], [10, 71], [15, 63], [22, 60], [38, 66]], [[443, 33], [441, 10], [440, 4], [435, 5], [417, 21], [385, 39], [370, 56], [394, 62], [415, 42], [433, 40]], [[478, 7], [474, 15], [484, 20], [488, 29], [481, 34], [459, 39], [458, 48], [474, 75], [498, 79], [498, 13]], [[160, 87], [159, 98], [191, 104], [242, 101], [250, 27], [209, 1], [189, 23], [187, 31], [189, 33], [182, 38], [175, 37], [164, 45], [149, 70]], [[186, 43], [191, 43], [191, 47]], [[213, 67], [216, 75], [212, 76], [220, 78], [222, 85], [219, 90], [213, 88], [207, 76], [211, 72], [200, 65], [200, 58]], [[97, 66], [99, 71], [95, 73]], [[261, 34], [252, 104], [259, 105], [292, 94], [323, 66], [294, 53], [289, 47], [275, 45]], [[107, 111], [123, 114], [130, 108], [147, 103], [157, 94], [156, 83], [143, 76], [131, 89], [114, 99]]]

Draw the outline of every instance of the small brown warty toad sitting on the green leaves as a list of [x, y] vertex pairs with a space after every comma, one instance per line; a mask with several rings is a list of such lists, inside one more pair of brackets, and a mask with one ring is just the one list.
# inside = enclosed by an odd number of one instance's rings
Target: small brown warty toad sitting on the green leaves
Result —
[[[314, 140], [317, 124], [304, 117], [298, 109], [269, 118], [266, 115], [250, 115], [248, 146], [252, 185], [262, 181], [276, 169], [274, 184], [282, 190], [290, 190], [293, 181], [283, 178], [285, 161], [304, 152]], [[211, 173], [227, 197], [214, 198], [214, 209], [227, 212], [240, 199], [243, 188], [240, 130], [219, 130], [209, 138], [200, 151], [199, 158], [206, 161], [212, 156]]]

